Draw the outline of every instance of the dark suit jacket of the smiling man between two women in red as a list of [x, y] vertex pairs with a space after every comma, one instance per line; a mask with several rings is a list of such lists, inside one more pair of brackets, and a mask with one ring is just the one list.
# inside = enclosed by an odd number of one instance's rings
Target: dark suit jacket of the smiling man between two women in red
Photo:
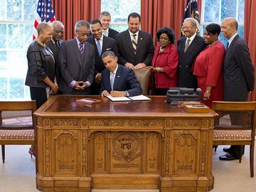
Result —
[[193, 75], [193, 62], [196, 56], [206, 48], [206, 43], [201, 36], [196, 35], [191, 45], [184, 53], [186, 37], [178, 40], [178, 87], [197, 88], [196, 76]]

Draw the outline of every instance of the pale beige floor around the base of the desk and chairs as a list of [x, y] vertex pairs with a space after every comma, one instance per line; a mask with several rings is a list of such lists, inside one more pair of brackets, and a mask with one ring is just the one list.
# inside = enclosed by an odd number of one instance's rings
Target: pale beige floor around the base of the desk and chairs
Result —
[[[0, 163], [0, 192], [36, 192], [35, 159], [28, 154], [29, 146], [6, 146], [6, 163]], [[211, 192], [255, 192], [255, 178], [250, 178], [249, 153], [245, 147], [242, 164], [238, 161], [220, 161], [225, 154], [223, 146], [213, 151], [214, 189]], [[256, 152], [255, 152], [256, 154]], [[256, 166], [256, 158], [255, 158]], [[158, 190], [92, 190], [92, 192], [158, 192]]]

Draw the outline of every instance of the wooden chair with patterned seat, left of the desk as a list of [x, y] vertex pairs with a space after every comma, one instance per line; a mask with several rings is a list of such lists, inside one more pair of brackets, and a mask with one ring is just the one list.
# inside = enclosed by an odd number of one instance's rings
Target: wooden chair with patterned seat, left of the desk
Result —
[[[5, 159], [6, 144], [36, 144], [36, 101], [0, 101], [0, 144]], [[36, 149], [36, 146], [35, 146]]]

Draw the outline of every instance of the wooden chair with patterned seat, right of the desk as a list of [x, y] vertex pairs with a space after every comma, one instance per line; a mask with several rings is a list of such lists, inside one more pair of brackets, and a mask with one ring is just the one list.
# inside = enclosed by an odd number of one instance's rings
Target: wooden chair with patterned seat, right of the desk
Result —
[[212, 109], [219, 114], [213, 145], [250, 145], [250, 177], [254, 177], [256, 102], [213, 101]]

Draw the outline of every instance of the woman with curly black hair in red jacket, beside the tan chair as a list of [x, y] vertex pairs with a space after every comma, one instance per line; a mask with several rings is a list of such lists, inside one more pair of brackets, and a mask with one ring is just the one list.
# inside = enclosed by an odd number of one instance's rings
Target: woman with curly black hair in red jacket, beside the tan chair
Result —
[[155, 95], [166, 95], [169, 87], [177, 86], [178, 50], [174, 46], [174, 31], [167, 27], [161, 28], [156, 32], [156, 40], [159, 44], [150, 67], [154, 71], [152, 84], [155, 84]]

